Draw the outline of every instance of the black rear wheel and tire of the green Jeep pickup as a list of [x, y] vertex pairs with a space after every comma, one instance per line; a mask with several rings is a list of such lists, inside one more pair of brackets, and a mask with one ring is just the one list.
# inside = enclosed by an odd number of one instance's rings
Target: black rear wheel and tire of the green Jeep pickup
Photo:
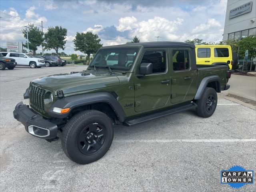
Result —
[[206, 87], [199, 100], [196, 100], [196, 113], [200, 117], [210, 117], [214, 113], [218, 102], [216, 90], [211, 87]]

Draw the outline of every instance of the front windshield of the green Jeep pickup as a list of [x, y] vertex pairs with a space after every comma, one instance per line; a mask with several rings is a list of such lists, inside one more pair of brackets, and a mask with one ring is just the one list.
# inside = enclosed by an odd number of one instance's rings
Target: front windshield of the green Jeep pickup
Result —
[[110, 67], [113, 70], [128, 71], [132, 67], [138, 48], [101, 49], [95, 55], [90, 66]]

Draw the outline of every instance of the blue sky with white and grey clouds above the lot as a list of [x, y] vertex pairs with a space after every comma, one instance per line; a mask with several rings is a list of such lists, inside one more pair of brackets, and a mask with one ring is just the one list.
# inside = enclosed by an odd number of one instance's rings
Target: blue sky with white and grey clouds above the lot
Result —
[[41, 21], [44, 32], [49, 26], [68, 30], [66, 54], [80, 54], [72, 41], [76, 32], [87, 31], [98, 34], [103, 46], [124, 44], [134, 36], [141, 42], [157, 41], [156, 36], [159, 41], [218, 42], [226, 5], [226, 0], [1, 0], [0, 46], [26, 42], [23, 26], [34, 23], [41, 28]]

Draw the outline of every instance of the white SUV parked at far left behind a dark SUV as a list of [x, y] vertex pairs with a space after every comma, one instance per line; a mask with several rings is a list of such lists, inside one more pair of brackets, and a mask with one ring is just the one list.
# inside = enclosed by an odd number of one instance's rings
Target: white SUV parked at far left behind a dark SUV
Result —
[[14, 53], [14, 52], [1, 52], [5, 57], [13, 58], [16, 60], [17, 65], [30, 66], [31, 68], [41, 68], [45, 66], [44, 60], [34, 58], [30, 54], [26, 53]]

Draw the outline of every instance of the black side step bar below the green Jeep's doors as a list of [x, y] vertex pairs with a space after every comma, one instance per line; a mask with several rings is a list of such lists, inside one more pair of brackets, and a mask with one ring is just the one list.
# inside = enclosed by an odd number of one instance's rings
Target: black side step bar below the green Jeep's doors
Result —
[[193, 102], [193, 103], [190, 103], [190, 104], [185, 105], [185, 106], [181, 106], [181, 107], [177, 107], [177, 108], [173, 108], [173, 109], [168, 109], [168, 110], [164, 110], [164, 111], [160, 111], [160, 112], [154, 112], [154, 113], [148, 114], [146, 116], [140, 116], [138, 118], [125, 120], [123, 122], [123, 125], [124, 126], [132, 126], [132, 125], [136, 125], [136, 124], [146, 122], [146, 121], [149, 121], [149, 120], [153, 120], [153, 119], [156, 119], [156, 118], [164, 117], [164, 116], [167, 116], [167, 115], [175, 114], [175, 113], [186, 111], [186, 110], [189, 110], [189, 109], [194, 109], [196, 107], [197, 107], [197, 104]]

